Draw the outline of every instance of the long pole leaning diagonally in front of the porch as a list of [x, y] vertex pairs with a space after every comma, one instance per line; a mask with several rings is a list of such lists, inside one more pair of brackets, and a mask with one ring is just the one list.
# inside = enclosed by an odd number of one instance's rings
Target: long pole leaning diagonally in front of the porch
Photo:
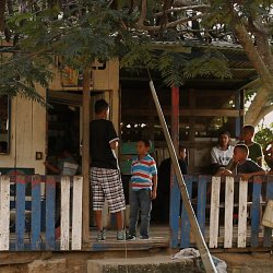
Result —
[[[151, 79], [151, 76], [150, 76], [150, 79]], [[180, 167], [179, 167], [179, 163], [178, 163], [178, 158], [177, 158], [177, 155], [175, 152], [175, 147], [174, 147], [174, 144], [173, 144], [169, 131], [168, 131], [168, 127], [166, 124], [166, 120], [164, 118], [162, 107], [161, 107], [158, 97], [156, 95], [156, 91], [155, 91], [154, 83], [153, 83], [152, 79], [150, 80], [150, 88], [151, 88], [151, 92], [152, 92], [152, 95], [154, 98], [157, 115], [159, 117], [159, 120], [161, 120], [161, 123], [163, 127], [164, 135], [165, 135], [165, 139], [167, 141], [167, 145], [168, 145], [168, 150], [169, 150], [169, 154], [170, 154], [170, 159], [171, 159], [173, 165], [174, 165], [174, 169], [175, 169], [177, 181], [178, 181], [178, 185], [180, 188], [183, 205], [185, 205], [185, 209], [186, 209], [188, 216], [189, 216], [189, 219], [190, 219], [190, 225], [191, 225], [191, 228], [192, 228], [195, 241], [197, 241], [197, 246], [198, 246], [201, 259], [202, 259], [203, 264], [204, 264], [205, 272], [217, 272], [215, 269], [215, 265], [213, 263], [211, 253], [210, 253], [210, 251], [206, 247], [206, 244], [204, 241], [204, 237], [203, 237], [201, 229], [199, 227], [194, 211], [192, 209], [192, 205], [191, 205], [191, 202], [189, 199], [189, 194], [188, 194], [188, 191], [186, 188], [186, 183], [183, 181], [183, 176], [182, 176], [182, 173], [181, 173]]]

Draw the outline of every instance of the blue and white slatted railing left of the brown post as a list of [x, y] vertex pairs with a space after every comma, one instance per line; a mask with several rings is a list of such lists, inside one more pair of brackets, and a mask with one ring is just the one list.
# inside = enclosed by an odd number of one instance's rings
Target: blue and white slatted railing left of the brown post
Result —
[[[0, 251], [56, 249], [57, 183], [60, 183], [61, 189], [59, 249], [80, 250], [82, 248], [82, 177], [0, 176]], [[26, 197], [26, 189], [29, 187], [31, 197]], [[45, 189], [44, 193], [43, 189]], [[73, 189], [72, 194], [71, 189]], [[12, 205], [12, 203], [15, 204]], [[70, 232], [71, 218], [72, 230]], [[13, 221], [15, 233], [11, 232]], [[25, 238], [27, 234], [28, 238]]]

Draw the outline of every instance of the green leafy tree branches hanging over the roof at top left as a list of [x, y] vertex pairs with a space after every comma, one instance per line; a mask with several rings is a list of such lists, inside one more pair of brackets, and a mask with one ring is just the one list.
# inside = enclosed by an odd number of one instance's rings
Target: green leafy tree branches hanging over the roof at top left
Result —
[[[16, 2], [16, 1], [15, 1]], [[7, 28], [13, 37], [11, 55], [0, 67], [0, 94], [24, 95], [43, 100], [35, 85], [48, 86], [55, 66], [54, 56], [62, 57], [62, 66], [83, 70], [95, 59], [120, 58], [126, 68], [156, 69], [169, 85], [181, 85], [185, 79], [197, 76], [230, 76], [226, 60], [210, 50], [197, 59], [186, 55], [155, 50], [156, 39], [177, 39], [177, 32], [166, 28], [150, 32], [138, 28], [141, 8], [127, 7], [127, 1], [82, 0], [60, 7], [58, 1], [41, 1], [7, 17]], [[126, 4], [124, 4], [126, 3]], [[20, 8], [20, 2], [17, 2]], [[166, 12], [164, 1], [147, 1], [145, 25], [166, 24], [169, 14], [155, 20], [155, 10]], [[127, 7], [127, 8], [126, 8]], [[22, 7], [21, 7], [22, 8]], [[181, 19], [186, 12], [175, 16]], [[173, 15], [171, 15], [173, 16]], [[188, 16], [188, 15], [187, 15]], [[164, 23], [164, 20], [165, 23]], [[179, 38], [178, 38], [179, 39]]]

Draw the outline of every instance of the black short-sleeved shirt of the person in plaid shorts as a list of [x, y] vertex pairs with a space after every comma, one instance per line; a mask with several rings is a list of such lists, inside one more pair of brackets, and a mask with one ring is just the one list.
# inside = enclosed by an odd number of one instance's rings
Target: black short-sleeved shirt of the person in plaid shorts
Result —
[[118, 169], [118, 161], [110, 142], [118, 140], [111, 121], [97, 119], [91, 122], [91, 166], [97, 168]]

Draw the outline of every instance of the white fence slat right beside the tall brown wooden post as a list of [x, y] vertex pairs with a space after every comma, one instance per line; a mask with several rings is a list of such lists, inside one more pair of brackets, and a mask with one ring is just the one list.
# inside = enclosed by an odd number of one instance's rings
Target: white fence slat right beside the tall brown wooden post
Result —
[[72, 250], [82, 248], [82, 194], [83, 178], [73, 179]]

